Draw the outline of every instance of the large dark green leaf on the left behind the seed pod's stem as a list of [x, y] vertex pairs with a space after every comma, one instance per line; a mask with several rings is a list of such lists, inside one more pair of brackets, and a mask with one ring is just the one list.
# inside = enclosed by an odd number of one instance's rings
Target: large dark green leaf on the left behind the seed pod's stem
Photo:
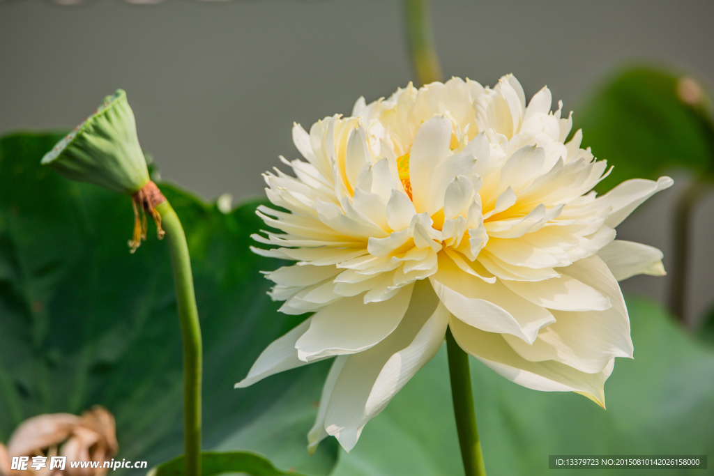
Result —
[[[150, 226], [129, 254], [129, 197], [40, 166], [59, 137], [0, 140], [0, 440], [33, 415], [101, 404], [116, 417], [119, 457], [156, 465], [183, 449], [169, 252]], [[306, 433], [329, 363], [233, 389], [263, 348], [301, 320], [277, 313], [266, 296], [258, 271], [278, 263], [248, 250], [262, 223], [257, 202], [223, 214], [161, 189], [191, 251], [203, 330], [203, 447], [253, 450], [277, 467], [326, 475], [336, 445], [308, 457]]]

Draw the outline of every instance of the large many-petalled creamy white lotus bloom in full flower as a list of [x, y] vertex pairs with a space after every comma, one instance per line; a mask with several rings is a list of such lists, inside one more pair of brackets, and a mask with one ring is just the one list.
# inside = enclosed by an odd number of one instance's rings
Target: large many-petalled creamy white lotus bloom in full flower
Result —
[[284, 233], [261, 255], [297, 263], [266, 273], [281, 312], [314, 313], [263, 351], [246, 387], [337, 356], [311, 450], [334, 435], [351, 450], [419, 368], [447, 325], [473, 357], [524, 387], [582, 393], [604, 407], [615, 357], [633, 356], [618, 280], [663, 275], [656, 248], [615, 226], [658, 181], [603, 196], [605, 161], [564, 143], [571, 119], [543, 88], [526, 107], [515, 77], [493, 88], [453, 78], [366, 104], [351, 117], [296, 124], [306, 161], [266, 173], [258, 215]]

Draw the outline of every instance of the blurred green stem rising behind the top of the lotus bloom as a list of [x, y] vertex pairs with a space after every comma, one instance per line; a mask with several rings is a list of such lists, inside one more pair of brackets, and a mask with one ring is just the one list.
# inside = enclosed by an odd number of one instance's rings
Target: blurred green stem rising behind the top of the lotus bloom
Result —
[[442, 81], [441, 65], [431, 32], [428, 0], [404, 0], [406, 33], [411, 60], [421, 84]]

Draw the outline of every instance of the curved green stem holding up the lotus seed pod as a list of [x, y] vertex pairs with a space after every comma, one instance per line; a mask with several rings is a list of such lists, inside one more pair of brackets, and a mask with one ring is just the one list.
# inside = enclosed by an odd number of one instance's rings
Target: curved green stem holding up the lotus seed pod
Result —
[[181, 221], [169, 201], [156, 206], [166, 231], [174, 265], [178, 318], [183, 335], [183, 445], [185, 476], [201, 476], [201, 372], [203, 350], [201, 325], [198, 323], [196, 294], [193, 292], [191, 259]]

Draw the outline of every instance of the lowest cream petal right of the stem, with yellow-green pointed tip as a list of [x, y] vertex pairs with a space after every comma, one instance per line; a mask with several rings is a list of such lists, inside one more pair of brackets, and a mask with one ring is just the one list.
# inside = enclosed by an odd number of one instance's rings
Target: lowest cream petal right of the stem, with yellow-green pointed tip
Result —
[[598, 373], [584, 373], [552, 360], [530, 362], [518, 355], [500, 334], [484, 332], [458, 318], [452, 317], [449, 327], [463, 350], [508, 380], [533, 390], [587, 394], [605, 407], [604, 385], [614, 359]]

